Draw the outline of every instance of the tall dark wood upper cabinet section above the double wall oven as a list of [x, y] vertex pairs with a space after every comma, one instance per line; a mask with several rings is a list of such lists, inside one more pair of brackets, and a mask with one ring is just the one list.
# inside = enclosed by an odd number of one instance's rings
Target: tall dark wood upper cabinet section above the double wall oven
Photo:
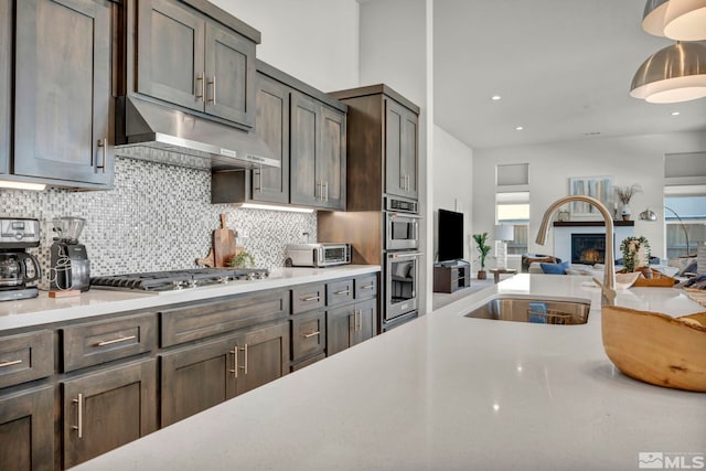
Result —
[[379, 211], [385, 194], [416, 200], [419, 107], [382, 84], [331, 96], [349, 106], [347, 211]]

